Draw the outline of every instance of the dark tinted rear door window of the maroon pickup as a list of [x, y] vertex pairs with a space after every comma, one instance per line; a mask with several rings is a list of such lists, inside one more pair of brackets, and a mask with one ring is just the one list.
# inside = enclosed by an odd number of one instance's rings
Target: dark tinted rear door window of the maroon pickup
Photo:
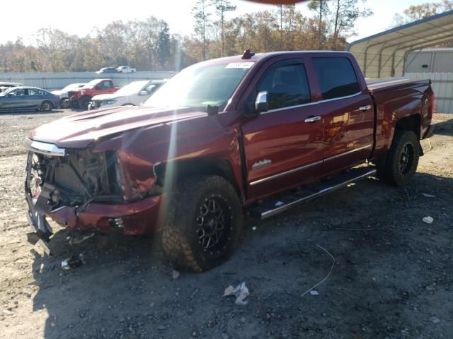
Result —
[[360, 92], [357, 76], [348, 58], [313, 58], [323, 100]]

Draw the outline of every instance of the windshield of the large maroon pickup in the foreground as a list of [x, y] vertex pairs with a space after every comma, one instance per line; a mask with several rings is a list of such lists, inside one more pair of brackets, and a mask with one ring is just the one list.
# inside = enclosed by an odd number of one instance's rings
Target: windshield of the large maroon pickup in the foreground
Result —
[[197, 107], [226, 106], [236, 87], [253, 65], [253, 62], [234, 62], [205, 66], [197, 64], [180, 71], [156, 90], [143, 106]]

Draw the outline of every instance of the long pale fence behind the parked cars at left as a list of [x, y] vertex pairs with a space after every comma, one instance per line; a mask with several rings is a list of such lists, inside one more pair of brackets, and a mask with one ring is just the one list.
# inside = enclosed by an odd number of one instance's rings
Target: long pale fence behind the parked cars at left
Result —
[[124, 86], [137, 80], [159, 80], [170, 78], [175, 72], [144, 71], [137, 73], [106, 73], [94, 72], [67, 72], [67, 73], [0, 73], [0, 81], [22, 83], [27, 86], [44, 88], [45, 90], [61, 90], [70, 83], [88, 83], [96, 78], [113, 79], [117, 86]]

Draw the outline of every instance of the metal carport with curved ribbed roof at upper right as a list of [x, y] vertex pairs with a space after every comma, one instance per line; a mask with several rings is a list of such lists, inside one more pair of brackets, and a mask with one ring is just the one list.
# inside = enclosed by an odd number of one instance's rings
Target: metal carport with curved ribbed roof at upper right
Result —
[[355, 55], [367, 78], [382, 78], [403, 76], [409, 53], [449, 41], [453, 41], [453, 11], [351, 42], [346, 50]]

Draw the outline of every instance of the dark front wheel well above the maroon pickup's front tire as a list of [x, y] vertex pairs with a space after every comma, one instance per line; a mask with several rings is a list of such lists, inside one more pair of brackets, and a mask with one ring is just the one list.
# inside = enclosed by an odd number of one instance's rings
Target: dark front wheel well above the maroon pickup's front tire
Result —
[[233, 185], [238, 196], [240, 190], [234, 179], [233, 168], [228, 160], [218, 160], [213, 158], [202, 158], [194, 160], [179, 160], [175, 162], [158, 163], [154, 165], [154, 174], [156, 175], [156, 182], [159, 186], [163, 187], [167, 181], [167, 169], [170, 169], [171, 179], [176, 182], [184, 177], [190, 175], [218, 175], [223, 177], [230, 184]]

